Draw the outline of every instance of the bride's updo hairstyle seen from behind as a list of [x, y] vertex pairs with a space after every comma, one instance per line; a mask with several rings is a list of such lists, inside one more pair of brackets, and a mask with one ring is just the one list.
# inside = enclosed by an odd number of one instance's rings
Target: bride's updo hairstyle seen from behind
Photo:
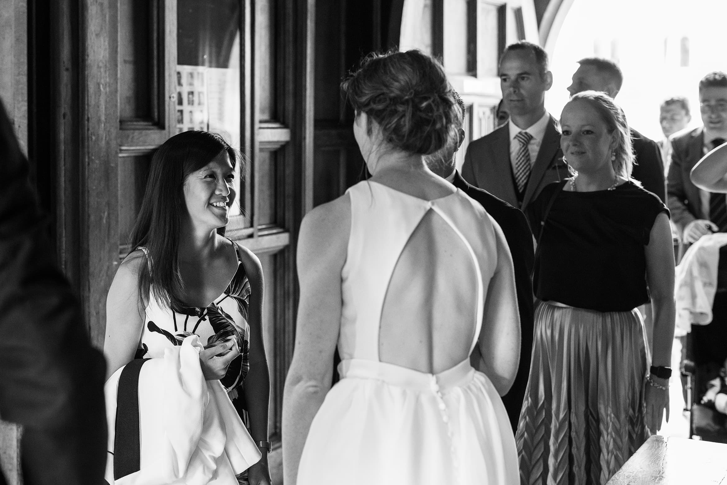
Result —
[[[440, 63], [418, 50], [369, 54], [342, 82], [356, 114], [377, 122], [392, 148], [428, 155], [457, 129], [454, 90]], [[371, 134], [371, 124], [366, 127]]]

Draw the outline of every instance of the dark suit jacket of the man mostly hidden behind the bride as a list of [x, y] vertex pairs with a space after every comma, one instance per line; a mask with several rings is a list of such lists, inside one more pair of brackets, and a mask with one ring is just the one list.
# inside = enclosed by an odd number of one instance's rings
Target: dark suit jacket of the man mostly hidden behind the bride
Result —
[[507, 409], [507, 416], [510, 417], [510, 424], [513, 426], [513, 430], [516, 430], [525, 398], [525, 388], [528, 385], [533, 348], [534, 300], [531, 278], [535, 262], [533, 236], [525, 215], [519, 209], [497, 199], [491, 193], [468, 184], [459, 175], [459, 172], [454, 172], [454, 181], [452, 183], [466, 193], [467, 196], [470, 196], [471, 199], [478, 201], [495, 222], [499, 224], [502, 233], [505, 234], [507, 246], [510, 247], [510, 254], [513, 255], [515, 292], [518, 295], [518, 313], [520, 313], [521, 328], [520, 364], [513, 387], [510, 388], [510, 392], [502, 397], [502, 402], [505, 404], [505, 409]]

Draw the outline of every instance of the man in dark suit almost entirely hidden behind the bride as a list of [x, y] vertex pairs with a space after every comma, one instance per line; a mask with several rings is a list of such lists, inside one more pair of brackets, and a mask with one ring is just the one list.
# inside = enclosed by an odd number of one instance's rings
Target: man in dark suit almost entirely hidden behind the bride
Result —
[[[444, 148], [425, 156], [428, 167], [440, 177], [448, 180], [455, 187], [462, 190], [467, 196], [478, 201], [487, 213], [502, 228], [502, 233], [510, 247], [510, 254], [513, 256], [513, 269], [515, 273], [515, 292], [518, 295], [518, 313], [520, 313], [521, 346], [520, 365], [515, 375], [515, 382], [502, 402], [505, 404], [507, 416], [510, 418], [510, 425], [513, 431], [518, 428], [520, 410], [523, 407], [525, 390], [528, 384], [530, 371], [531, 351], [533, 347], [533, 281], [531, 274], [535, 255], [533, 252], [532, 234], [525, 215], [505, 201], [497, 199], [491, 193], [473, 187], [465, 182], [455, 167], [454, 153], [459, 150], [462, 141], [465, 140], [465, 132], [462, 123], [465, 116], [465, 103], [457, 97], [459, 108], [462, 110], [462, 119], [459, 119], [459, 136], [452, 137]], [[478, 360], [479, 348], [473, 350], [475, 361]]]

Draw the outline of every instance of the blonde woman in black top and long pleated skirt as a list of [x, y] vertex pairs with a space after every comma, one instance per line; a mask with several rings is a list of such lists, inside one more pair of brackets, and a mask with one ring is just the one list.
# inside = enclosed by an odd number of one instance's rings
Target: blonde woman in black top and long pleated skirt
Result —
[[[561, 148], [577, 175], [548, 185], [528, 209], [538, 238], [538, 302], [515, 439], [523, 482], [603, 485], [656, 433], [668, 402], [669, 211], [631, 179], [629, 127], [614, 100], [574, 95], [561, 126]], [[651, 349], [635, 310], [650, 297]]]

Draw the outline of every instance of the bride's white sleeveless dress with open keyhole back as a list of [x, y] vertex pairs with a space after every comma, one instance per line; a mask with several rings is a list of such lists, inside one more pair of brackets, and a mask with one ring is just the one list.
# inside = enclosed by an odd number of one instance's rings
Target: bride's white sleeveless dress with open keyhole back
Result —
[[[497, 258], [510, 258], [499, 226], [462, 191], [425, 201], [365, 181], [348, 194], [351, 229], [338, 342], [341, 380], [310, 427], [297, 484], [519, 484], [515, 438], [505, 407], [489, 378], [475, 371], [469, 359], [438, 374], [379, 361], [385, 304], [399, 301], [399, 295], [387, 294], [390, 282], [412, 234], [429, 236], [417, 231], [427, 215], [441, 217], [470, 255], [472, 268], [467, 271], [476, 275], [475, 294], [463, 300], [476, 302], [476, 308], [471, 327], [465, 325], [470, 331], [462, 338], [472, 339], [472, 352]], [[430, 263], [422, 254], [421, 264]], [[500, 304], [516, 313], [512, 274], [506, 284], [512, 286], [512, 297]]]

